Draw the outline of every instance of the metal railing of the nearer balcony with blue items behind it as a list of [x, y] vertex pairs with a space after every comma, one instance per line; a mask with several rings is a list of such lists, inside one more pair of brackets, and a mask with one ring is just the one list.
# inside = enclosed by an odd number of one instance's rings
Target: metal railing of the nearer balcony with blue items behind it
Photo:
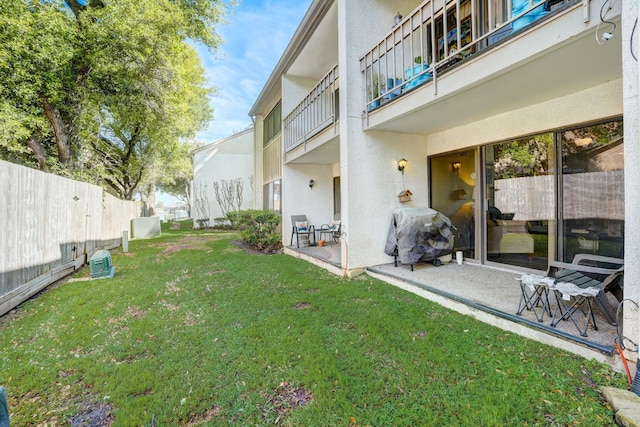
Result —
[[360, 58], [371, 111], [580, 0], [426, 0]]

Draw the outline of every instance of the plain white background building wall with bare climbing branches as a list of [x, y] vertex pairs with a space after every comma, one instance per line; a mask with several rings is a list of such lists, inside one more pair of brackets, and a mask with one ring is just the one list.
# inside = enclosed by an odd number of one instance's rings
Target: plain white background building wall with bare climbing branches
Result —
[[[253, 208], [253, 129], [231, 135], [200, 147], [191, 153], [193, 162], [193, 184], [191, 197], [191, 217], [193, 226], [215, 225], [216, 218], [224, 216], [222, 207], [216, 199], [223, 194], [223, 188], [230, 183], [235, 186], [232, 206], [226, 209], [243, 210]], [[240, 186], [241, 199], [238, 199]]]

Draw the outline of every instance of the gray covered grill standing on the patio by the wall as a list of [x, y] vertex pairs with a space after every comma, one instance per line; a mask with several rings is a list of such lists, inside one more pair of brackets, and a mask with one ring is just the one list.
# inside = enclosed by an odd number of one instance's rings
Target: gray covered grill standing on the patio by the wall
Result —
[[429, 208], [393, 211], [384, 252], [398, 256], [402, 264], [433, 261], [453, 251], [451, 221]]

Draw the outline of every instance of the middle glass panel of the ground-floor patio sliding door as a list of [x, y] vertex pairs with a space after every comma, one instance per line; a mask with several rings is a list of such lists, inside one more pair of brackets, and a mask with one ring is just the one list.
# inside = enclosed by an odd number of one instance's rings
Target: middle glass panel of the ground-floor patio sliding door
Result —
[[547, 268], [554, 242], [553, 147], [552, 133], [485, 147], [487, 261]]

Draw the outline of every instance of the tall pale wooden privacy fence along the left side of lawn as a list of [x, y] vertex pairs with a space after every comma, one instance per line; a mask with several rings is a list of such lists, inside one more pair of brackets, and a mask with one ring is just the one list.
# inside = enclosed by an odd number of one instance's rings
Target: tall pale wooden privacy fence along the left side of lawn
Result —
[[0, 316], [131, 235], [136, 202], [0, 161]]

